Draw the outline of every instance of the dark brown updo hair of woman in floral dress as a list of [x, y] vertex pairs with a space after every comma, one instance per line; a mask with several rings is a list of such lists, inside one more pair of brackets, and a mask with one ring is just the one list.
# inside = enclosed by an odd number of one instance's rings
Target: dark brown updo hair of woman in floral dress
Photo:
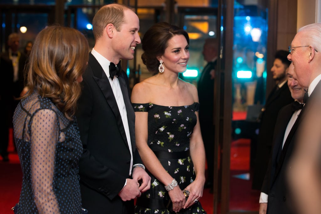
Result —
[[167, 22], [156, 23], [146, 31], [142, 39], [142, 60], [150, 72], [158, 73], [160, 62], [156, 57], [164, 55], [169, 39], [175, 35], [183, 35], [189, 44], [187, 32]]

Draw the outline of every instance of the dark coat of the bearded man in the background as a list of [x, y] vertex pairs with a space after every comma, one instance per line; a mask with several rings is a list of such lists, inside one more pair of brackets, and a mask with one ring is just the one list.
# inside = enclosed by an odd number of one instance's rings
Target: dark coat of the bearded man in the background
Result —
[[273, 132], [276, 118], [280, 109], [293, 102], [287, 83], [276, 90], [275, 86], [265, 103], [265, 110], [261, 114], [260, 130], [257, 139], [256, 161], [252, 188], [260, 190], [268, 167], [272, 149]]

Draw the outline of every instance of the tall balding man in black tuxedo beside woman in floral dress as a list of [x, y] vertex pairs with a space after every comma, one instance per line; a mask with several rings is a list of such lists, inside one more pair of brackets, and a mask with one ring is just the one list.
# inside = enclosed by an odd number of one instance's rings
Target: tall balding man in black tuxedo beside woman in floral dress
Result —
[[134, 213], [133, 199], [150, 188], [151, 178], [135, 150], [135, 115], [120, 59], [134, 58], [139, 20], [130, 8], [108, 4], [92, 25], [95, 46], [76, 113], [83, 144], [82, 206], [89, 213]]

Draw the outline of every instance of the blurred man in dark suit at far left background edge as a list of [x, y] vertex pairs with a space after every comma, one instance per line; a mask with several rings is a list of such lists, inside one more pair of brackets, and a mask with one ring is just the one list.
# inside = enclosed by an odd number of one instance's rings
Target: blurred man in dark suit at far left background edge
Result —
[[20, 37], [11, 33], [8, 37], [8, 50], [0, 55], [0, 121], [2, 121], [0, 155], [8, 161], [9, 128], [13, 127], [13, 112], [19, 101], [24, 84], [26, 56], [19, 51]]

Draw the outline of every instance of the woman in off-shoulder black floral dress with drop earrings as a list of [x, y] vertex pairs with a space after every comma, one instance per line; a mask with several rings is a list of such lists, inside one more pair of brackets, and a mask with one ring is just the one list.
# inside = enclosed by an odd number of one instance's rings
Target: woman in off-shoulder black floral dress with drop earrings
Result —
[[198, 201], [205, 182], [205, 151], [197, 90], [178, 78], [189, 59], [187, 32], [157, 23], [142, 44], [143, 63], [158, 73], [132, 92], [136, 147], [152, 178], [151, 189], [137, 198], [135, 213], [206, 213]]

